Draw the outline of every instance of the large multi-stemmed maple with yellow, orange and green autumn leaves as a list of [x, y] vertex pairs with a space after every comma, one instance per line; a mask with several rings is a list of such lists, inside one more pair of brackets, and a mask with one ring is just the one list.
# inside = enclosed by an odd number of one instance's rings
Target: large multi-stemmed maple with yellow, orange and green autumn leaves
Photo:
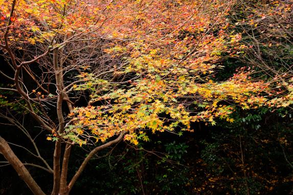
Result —
[[[191, 122], [233, 122], [230, 114], [237, 105], [279, 105], [264, 97], [269, 83], [251, 79], [249, 70], [217, 81], [223, 57], [245, 48], [241, 34], [228, 28], [234, 4], [0, 1], [0, 47], [7, 62], [0, 72], [5, 79], [1, 116], [20, 128], [36, 153], [26, 150], [44, 166], [22, 163], [1, 137], [7, 163], [34, 194], [44, 192], [25, 165], [53, 174], [52, 194], [69, 194], [89, 160], [122, 139], [138, 144], [149, 141], [149, 131], [182, 135], [192, 131]], [[53, 167], [19, 122], [28, 114], [55, 142]], [[69, 179], [76, 145], [95, 147]]]

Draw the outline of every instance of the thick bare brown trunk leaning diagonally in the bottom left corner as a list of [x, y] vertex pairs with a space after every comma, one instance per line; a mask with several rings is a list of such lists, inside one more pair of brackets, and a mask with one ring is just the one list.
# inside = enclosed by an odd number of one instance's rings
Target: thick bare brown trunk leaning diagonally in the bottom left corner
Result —
[[6, 160], [12, 165], [18, 176], [26, 182], [34, 194], [46, 195], [32, 178], [25, 165], [16, 157], [8, 143], [2, 137], [0, 137], [0, 151]]

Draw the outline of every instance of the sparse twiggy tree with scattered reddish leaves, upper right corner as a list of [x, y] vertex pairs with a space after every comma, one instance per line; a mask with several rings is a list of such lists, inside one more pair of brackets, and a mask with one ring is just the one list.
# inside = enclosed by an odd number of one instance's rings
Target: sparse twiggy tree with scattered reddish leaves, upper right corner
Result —
[[[292, 1], [238, 1], [231, 14], [247, 46], [241, 60], [285, 88], [292, 77]], [[290, 86], [289, 86], [290, 88]]]

